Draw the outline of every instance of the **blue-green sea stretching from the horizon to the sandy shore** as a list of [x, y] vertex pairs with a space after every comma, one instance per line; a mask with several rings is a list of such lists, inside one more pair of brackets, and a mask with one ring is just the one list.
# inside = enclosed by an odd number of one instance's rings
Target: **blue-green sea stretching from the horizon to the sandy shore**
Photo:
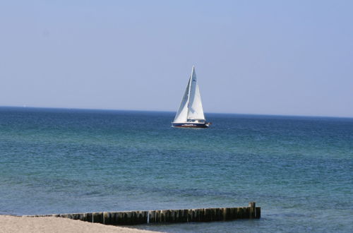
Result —
[[353, 119], [0, 108], [0, 214], [206, 208], [256, 201], [261, 220], [167, 232], [349, 232]]

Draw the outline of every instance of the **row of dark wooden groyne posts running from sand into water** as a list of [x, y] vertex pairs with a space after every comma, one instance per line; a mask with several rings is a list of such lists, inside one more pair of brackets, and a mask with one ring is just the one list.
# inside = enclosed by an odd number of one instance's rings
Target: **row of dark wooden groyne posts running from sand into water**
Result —
[[121, 212], [24, 215], [24, 217], [67, 217], [72, 220], [98, 222], [104, 225], [138, 225], [157, 222], [211, 222], [261, 217], [261, 208], [251, 202], [247, 207], [201, 208], [184, 210], [143, 210]]

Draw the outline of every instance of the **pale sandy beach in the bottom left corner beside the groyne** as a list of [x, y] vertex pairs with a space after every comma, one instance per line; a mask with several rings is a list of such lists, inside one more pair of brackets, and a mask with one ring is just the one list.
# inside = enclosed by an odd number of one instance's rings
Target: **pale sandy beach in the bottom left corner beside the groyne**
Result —
[[148, 233], [141, 229], [102, 225], [61, 217], [17, 217], [0, 215], [0, 233], [7, 232], [131, 232]]

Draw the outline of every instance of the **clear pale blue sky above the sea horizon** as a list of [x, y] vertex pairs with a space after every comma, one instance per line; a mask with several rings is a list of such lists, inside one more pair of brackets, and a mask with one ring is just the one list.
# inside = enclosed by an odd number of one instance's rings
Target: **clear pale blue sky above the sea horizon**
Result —
[[[353, 117], [353, 1], [0, 1], [0, 106]], [[207, 117], [207, 115], [206, 115]]]

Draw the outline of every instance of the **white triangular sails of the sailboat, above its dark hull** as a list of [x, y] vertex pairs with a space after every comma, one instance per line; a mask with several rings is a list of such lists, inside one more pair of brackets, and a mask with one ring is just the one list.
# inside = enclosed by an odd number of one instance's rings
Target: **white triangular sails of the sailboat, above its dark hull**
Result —
[[194, 66], [184, 96], [181, 100], [180, 107], [175, 115], [174, 123], [186, 123], [191, 120], [205, 121], [200, 88], [198, 88]]

